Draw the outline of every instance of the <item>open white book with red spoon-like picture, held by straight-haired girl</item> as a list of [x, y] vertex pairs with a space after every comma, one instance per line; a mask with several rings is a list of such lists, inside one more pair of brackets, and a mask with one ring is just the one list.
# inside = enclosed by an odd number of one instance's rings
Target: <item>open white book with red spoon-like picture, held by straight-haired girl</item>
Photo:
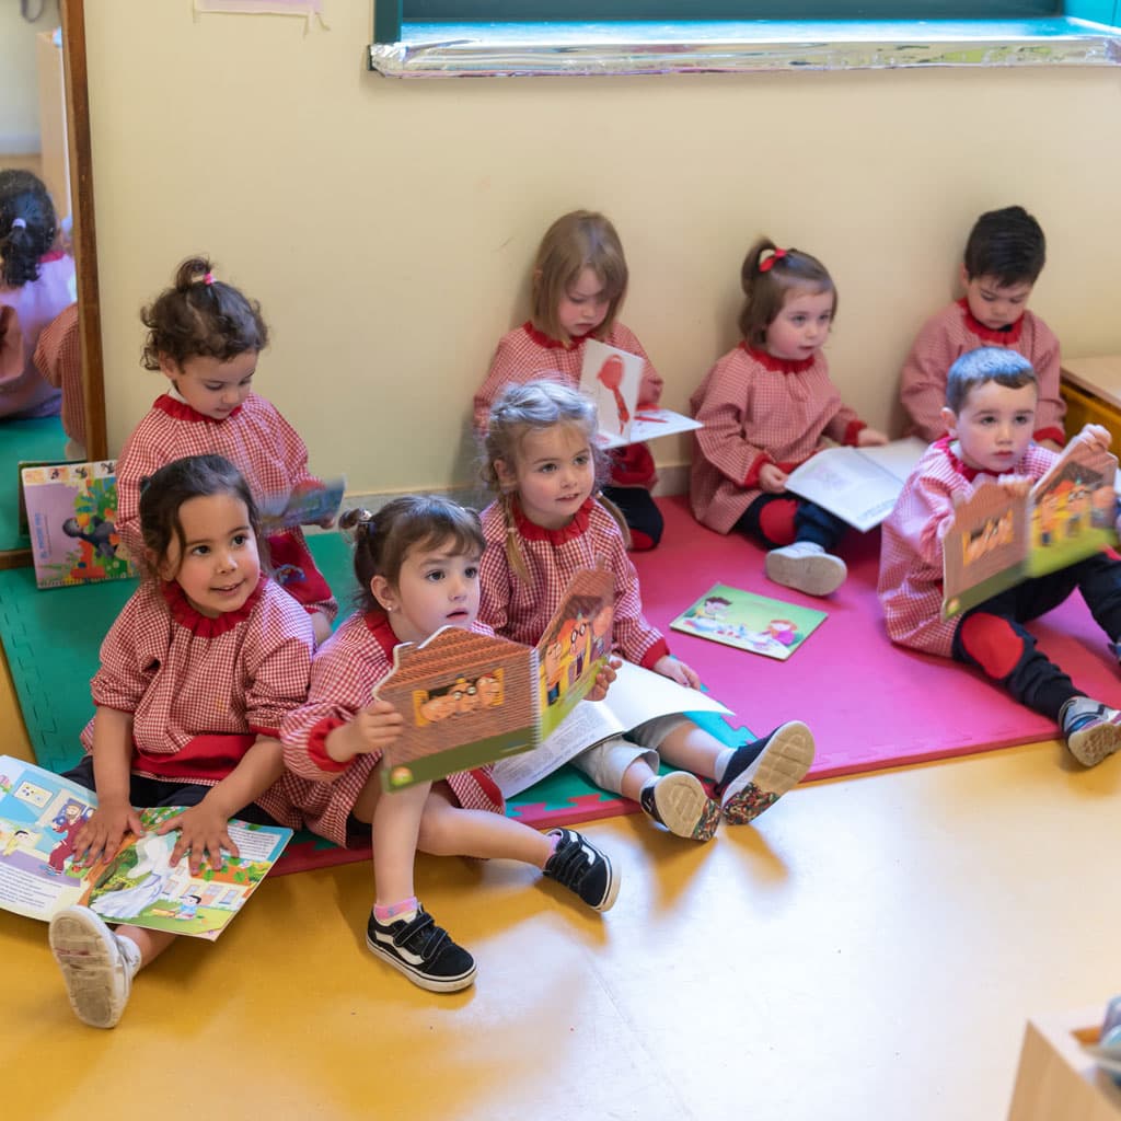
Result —
[[638, 407], [646, 359], [599, 339], [584, 343], [580, 388], [594, 401], [604, 447], [623, 447], [658, 436], [671, 436], [702, 427], [692, 417], [670, 409]]

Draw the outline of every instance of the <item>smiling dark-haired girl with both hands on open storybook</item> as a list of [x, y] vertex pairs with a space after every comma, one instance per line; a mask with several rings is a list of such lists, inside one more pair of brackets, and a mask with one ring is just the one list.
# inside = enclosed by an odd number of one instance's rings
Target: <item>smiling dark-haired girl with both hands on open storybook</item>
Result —
[[[220, 867], [223, 849], [237, 854], [231, 817], [300, 824], [279, 781], [278, 736], [306, 700], [315, 640], [307, 613], [261, 572], [257, 508], [228, 460], [194, 456], [157, 471], [140, 497], [140, 525], [148, 576], [102, 642], [86, 754], [65, 776], [98, 794], [74, 859], [93, 863], [126, 832], [141, 834], [133, 806], [183, 806], [155, 833], [178, 833], [165, 868], [187, 856], [197, 874], [204, 861]], [[50, 947], [83, 1022], [113, 1027], [136, 972], [175, 937], [112, 932], [95, 910], [139, 914], [163, 886], [154, 868], [129, 889], [143, 897], [131, 909], [94, 899], [93, 909], [52, 919]]]

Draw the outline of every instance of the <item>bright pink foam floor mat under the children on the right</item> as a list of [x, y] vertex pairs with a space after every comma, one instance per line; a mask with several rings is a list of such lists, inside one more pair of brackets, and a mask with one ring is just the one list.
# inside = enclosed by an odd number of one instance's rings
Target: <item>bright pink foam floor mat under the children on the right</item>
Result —
[[[810, 778], [853, 775], [1055, 738], [1056, 726], [980, 673], [892, 646], [876, 596], [879, 530], [850, 531], [839, 548], [849, 580], [824, 599], [772, 584], [763, 549], [694, 521], [686, 497], [659, 500], [661, 545], [634, 554], [647, 617], [741, 723], [761, 735], [786, 720], [813, 729]], [[828, 618], [787, 661], [721, 646], [669, 623], [713, 584], [823, 609]], [[1029, 624], [1083, 692], [1121, 706], [1121, 671], [1082, 597]]]

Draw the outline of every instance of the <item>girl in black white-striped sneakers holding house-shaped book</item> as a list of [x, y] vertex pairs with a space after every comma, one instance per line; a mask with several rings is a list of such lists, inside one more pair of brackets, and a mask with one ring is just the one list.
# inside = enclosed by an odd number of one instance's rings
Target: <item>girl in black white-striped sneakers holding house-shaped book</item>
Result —
[[[417, 850], [524, 861], [596, 910], [614, 902], [618, 874], [578, 833], [541, 834], [507, 817], [489, 766], [382, 793], [382, 752], [405, 716], [373, 689], [400, 642], [424, 642], [444, 627], [493, 633], [475, 621], [483, 536], [474, 511], [436, 497], [395, 499], [377, 515], [351, 510], [342, 524], [354, 531], [360, 609], [318, 651], [307, 704], [285, 720], [289, 789], [308, 828], [335, 844], [369, 844], [372, 827], [367, 945], [414, 984], [454, 992], [474, 981], [475, 964], [418, 902]], [[479, 704], [487, 687], [483, 677], [462, 683], [456, 706]]]

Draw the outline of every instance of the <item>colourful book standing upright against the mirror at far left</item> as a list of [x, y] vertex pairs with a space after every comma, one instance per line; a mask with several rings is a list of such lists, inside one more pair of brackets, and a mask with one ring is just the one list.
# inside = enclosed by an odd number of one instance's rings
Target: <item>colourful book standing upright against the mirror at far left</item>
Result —
[[24, 467], [24, 501], [39, 587], [133, 575], [117, 534], [117, 464]]

